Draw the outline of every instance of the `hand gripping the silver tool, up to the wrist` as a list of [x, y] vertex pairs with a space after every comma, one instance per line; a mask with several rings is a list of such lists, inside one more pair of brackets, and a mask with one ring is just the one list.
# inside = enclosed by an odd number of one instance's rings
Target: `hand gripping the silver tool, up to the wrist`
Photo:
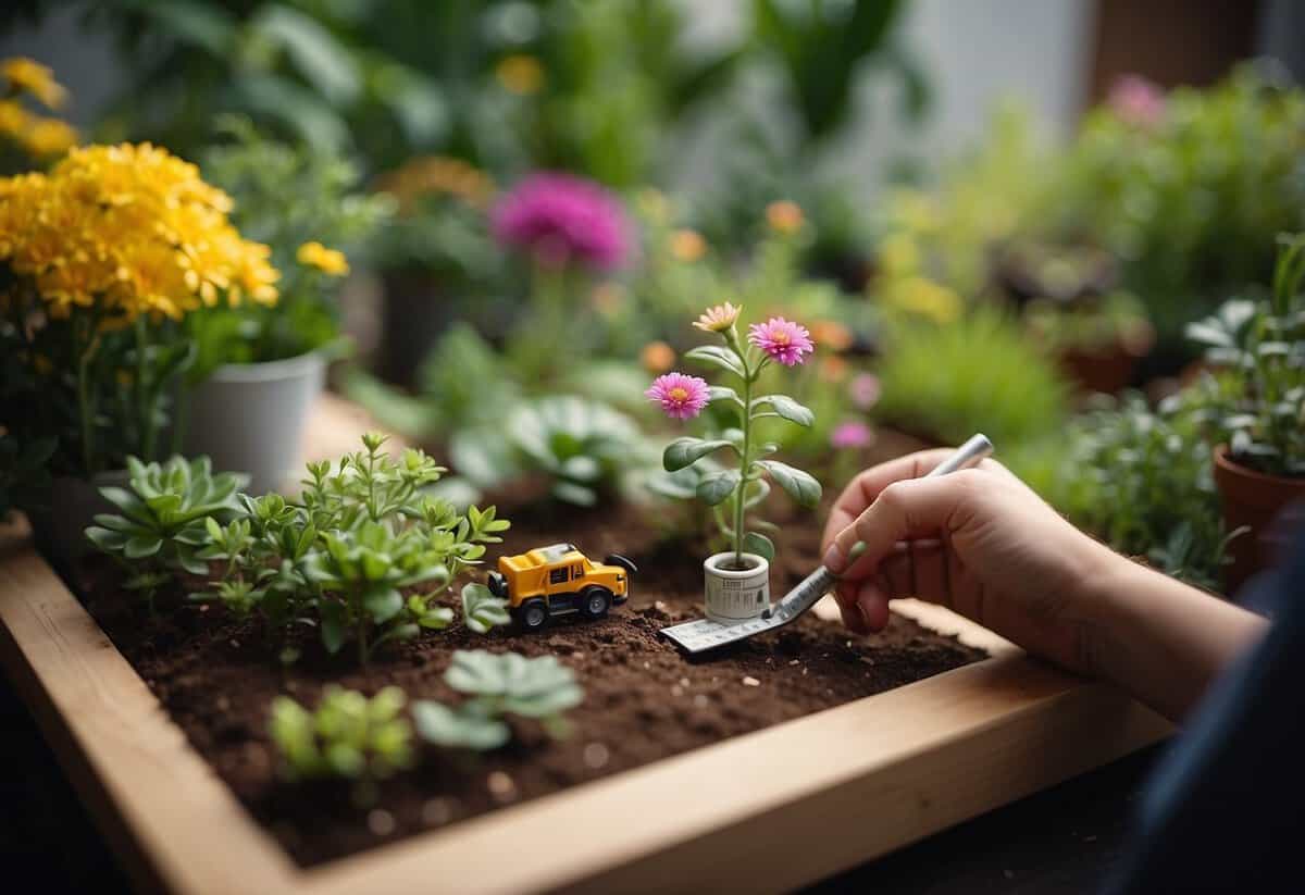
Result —
[[[882, 463], [847, 485], [825, 526], [843, 624], [882, 630], [889, 600], [940, 603], [1030, 652], [1094, 672], [1100, 607], [1088, 584], [1129, 561], [1066, 522], [1001, 463], [921, 478], [951, 454]], [[856, 541], [865, 553], [851, 568]]]

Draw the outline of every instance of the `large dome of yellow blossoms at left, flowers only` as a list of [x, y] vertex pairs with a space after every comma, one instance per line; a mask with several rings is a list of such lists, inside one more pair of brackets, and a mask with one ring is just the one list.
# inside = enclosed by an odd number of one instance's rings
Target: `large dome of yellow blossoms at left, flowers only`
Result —
[[180, 318], [245, 296], [277, 301], [271, 250], [240, 237], [231, 198], [149, 144], [73, 149], [48, 174], [0, 179], [0, 262], [51, 316]]

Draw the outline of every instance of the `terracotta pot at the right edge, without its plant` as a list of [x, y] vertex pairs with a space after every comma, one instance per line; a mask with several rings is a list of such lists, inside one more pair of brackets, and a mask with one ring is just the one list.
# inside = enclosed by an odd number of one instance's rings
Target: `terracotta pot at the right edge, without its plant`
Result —
[[1215, 448], [1214, 457], [1215, 487], [1223, 500], [1228, 531], [1250, 528], [1228, 544], [1232, 565], [1224, 571], [1224, 582], [1233, 594], [1287, 549], [1287, 532], [1275, 531], [1272, 523], [1288, 504], [1305, 500], [1305, 479], [1255, 472], [1229, 459], [1227, 445]]

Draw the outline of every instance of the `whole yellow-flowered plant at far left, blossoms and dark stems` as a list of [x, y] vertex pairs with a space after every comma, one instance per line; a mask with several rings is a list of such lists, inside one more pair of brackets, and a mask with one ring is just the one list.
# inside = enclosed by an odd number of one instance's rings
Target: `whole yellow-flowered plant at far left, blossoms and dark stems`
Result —
[[84, 552], [95, 485], [162, 450], [196, 354], [188, 317], [277, 299], [269, 249], [240, 236], [230, 205], [147, 144], [73, 149], [48, 175], [0, 180], [0, 458], [51, 474], [21, 509], [57, 564]]

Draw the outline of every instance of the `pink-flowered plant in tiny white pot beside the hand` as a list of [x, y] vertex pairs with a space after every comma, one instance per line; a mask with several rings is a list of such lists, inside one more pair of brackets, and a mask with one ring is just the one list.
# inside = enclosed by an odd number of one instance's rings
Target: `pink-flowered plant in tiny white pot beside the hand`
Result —
[[775, 547], [762, 532], [748, 530], [748, 511], [770, 494], [770, 481], [783, 488], [801, 506], [816, 506], [821, 497], [821, 485], [814, 478], [787, 463], [769, 459], [776, 445], [762, 441], [758, 432], [758, 423], [765, 419], [810, 425], [814, 415], [787, 395], [753, 393], [767, 365], [776, 363], [796, 367], [805, 361], [805, 356], [816, 346], [805, 326], [783, 317], [753, 324], [745, 344], [739, 339], [736, 329], [739, 312], [740, 308], [728, 301], [710, 308], [694, 326], [715, 333], [723, 344], [701, 346], [685, 354], [690, 360], [732, 374], [739, 390], [709, 386], [697, 376], [672, 372], [654, 380], [645, 393], [672, 419], [692, 419], [709, 403], [715, 403], [736, 421], [736, 425], [715, 437], [676, 438], [667, 445], [662, 457], [667, 472], [690, 467], [718, 451], [732, 454], [739, 462], [737, 466], [724, 466], [705, 475], [694, 492], [698, 500], [714, 508], [722, 534], [732, 543], [732, 549], [709, 556], [702, 564], [706, 613], [710, 618], [726, 622], [754, 618], [770, 608], [770, 561], [775, 556]]

